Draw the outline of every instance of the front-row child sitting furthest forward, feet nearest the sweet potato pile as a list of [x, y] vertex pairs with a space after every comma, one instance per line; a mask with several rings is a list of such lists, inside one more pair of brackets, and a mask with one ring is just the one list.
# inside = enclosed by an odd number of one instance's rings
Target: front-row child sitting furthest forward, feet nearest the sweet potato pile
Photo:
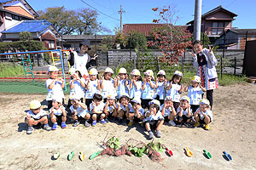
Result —
[[145, 118], [143, 122], [145, 123], [146, 130], [148, 132], [148, 139], [153, 139], [154, 134], [151, 129], [155, 127], [155, 136], [156, 138], [160, 138], [160, 128], [164, 124], [164, 117], [160, 112], [160, 101], [157, 99], [153, 99], [149, 102], [149, 111], [145, 113]]

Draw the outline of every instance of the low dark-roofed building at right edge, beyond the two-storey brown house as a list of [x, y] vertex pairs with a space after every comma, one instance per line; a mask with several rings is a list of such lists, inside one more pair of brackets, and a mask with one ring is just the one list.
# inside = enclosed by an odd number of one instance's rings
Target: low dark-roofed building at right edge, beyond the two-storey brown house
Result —
[[[225, 34], [225, 35], [224, 35]], [[246, 37], [247, 41], [256, 40], [256, 29], [232, 29], [223, 32], [215, 41], [218, 47], [227, 49], [245, 49]]]

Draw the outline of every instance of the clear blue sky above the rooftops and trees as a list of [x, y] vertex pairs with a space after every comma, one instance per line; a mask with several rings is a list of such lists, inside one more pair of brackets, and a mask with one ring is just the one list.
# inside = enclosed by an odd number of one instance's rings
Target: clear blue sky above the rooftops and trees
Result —
[[[120, 26], [120, 5], [123, 6], [122, 23], [140, 24], [153, 23], [159, 19], [158, 12], [152, 8], [172, 6], [177, 11], [177, 26], [184, 26], [194, 20], [195, 0], [26, 0], [36, 11], [48, 7], [61, 7], [67, 9], [92, 8], [96, 9], [98, 21], [107, 27], [109, 34], [114, 34], [114, 28]], [[212, 8], [222, 5], [238, 16], [233, 21], [232, 27], [256, 29], [256, 0], [202, 0], [201, 14], [207, 13]]]

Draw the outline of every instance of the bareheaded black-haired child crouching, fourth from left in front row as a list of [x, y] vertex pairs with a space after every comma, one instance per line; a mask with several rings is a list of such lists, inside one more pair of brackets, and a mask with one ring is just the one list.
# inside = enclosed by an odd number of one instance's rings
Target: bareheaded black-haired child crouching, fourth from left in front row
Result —
[[102, 124], [106, 124], [107, 122], [104, 120], [105, 114], [104, 111], [104, 103], [102, 102], [101, 94], [94, 94], [93, 101], [90, 104], [91, 118], [92, 118], [92, 126], [96, 126], [97, 120], [99, 120]]

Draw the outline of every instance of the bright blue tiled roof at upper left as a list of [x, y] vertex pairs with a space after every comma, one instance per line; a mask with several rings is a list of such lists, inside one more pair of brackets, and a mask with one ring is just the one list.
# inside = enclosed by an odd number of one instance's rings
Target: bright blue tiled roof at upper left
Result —
[[2, 33], [20, 33], [22, 31], [41, 32], [51, 26], [47, 20], [23, 20], [20, 24], [11, 27]]

